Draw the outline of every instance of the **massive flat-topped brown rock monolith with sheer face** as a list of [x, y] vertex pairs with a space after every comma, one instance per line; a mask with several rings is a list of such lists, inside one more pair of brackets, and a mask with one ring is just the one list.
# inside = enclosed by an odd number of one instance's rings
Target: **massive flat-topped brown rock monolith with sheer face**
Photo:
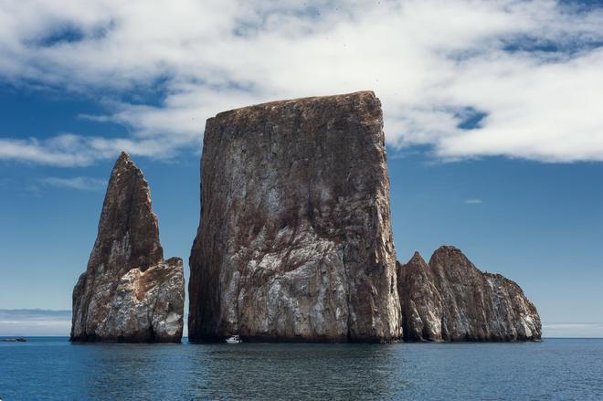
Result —
[[401, 335], [374, 93], [220, 113], [206, 123], [201, 171], [189, 338]]

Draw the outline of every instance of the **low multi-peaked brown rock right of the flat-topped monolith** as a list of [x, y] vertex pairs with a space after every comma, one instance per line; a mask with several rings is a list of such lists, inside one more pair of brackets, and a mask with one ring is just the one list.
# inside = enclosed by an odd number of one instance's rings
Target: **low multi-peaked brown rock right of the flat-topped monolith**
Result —
[[439, 248], [429, 264], [415, 253], [397, 269], [406, 341], [540, 339], [540, 317], [524, 291], [481, 272], [457, 248]]

